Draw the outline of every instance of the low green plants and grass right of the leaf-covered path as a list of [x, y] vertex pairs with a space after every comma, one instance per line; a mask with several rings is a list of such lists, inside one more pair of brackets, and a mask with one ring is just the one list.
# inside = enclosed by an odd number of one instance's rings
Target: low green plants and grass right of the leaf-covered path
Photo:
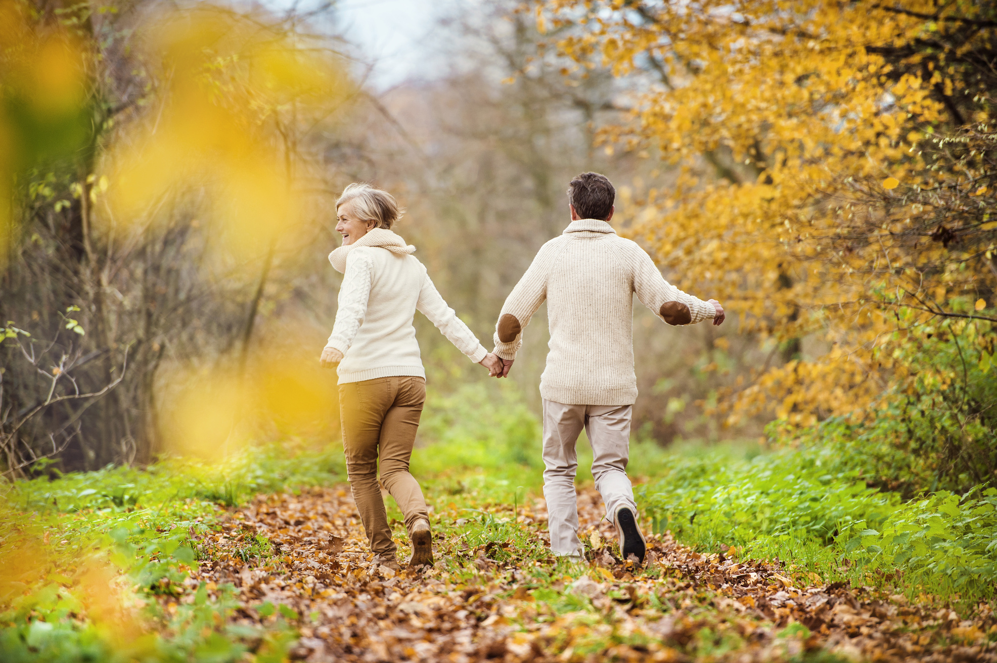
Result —
[[[903, 501], [843, 471], [835, 450], [755, 456], [731, 448], [676, 455], [637, 489], [656, 531], [695, 548], [779, 559], [791, 572], [911, 598], [994, 596], [997, 490]], [[813, 578], [812, 578], [813, 580]]]

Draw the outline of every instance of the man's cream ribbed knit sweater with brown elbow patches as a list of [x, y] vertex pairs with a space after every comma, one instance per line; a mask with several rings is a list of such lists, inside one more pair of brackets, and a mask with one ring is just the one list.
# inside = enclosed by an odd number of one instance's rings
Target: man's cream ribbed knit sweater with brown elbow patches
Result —
[[633, 294], [665, 322], [713, 319], [712, 304], [668, 283], [635, 242], [598, 219], [571, 221], [516, 283], [496, 326], [495, 353], [515, 359], [522, 328], [547, 300], [550, 352], [540, 396], [565, 405], [632, 405]]

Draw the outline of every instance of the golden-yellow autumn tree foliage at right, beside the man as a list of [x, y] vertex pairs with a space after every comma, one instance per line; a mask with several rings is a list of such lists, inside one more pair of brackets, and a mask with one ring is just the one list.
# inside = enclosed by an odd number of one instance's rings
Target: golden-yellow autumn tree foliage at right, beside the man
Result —
[[910, 329], [994, 319], [974, 302], [997, 284], [995, 224], [969, 197], [994, 145], [973, 64], [992, 3], [889, 4], [535, 3], [561, 57], [629, 91], [602, 140], [680, 168], [627, 205], [630, 235], [743, 330], [819, 349], [729, 394], [729, 423], [860, 415], [917, 374]]

